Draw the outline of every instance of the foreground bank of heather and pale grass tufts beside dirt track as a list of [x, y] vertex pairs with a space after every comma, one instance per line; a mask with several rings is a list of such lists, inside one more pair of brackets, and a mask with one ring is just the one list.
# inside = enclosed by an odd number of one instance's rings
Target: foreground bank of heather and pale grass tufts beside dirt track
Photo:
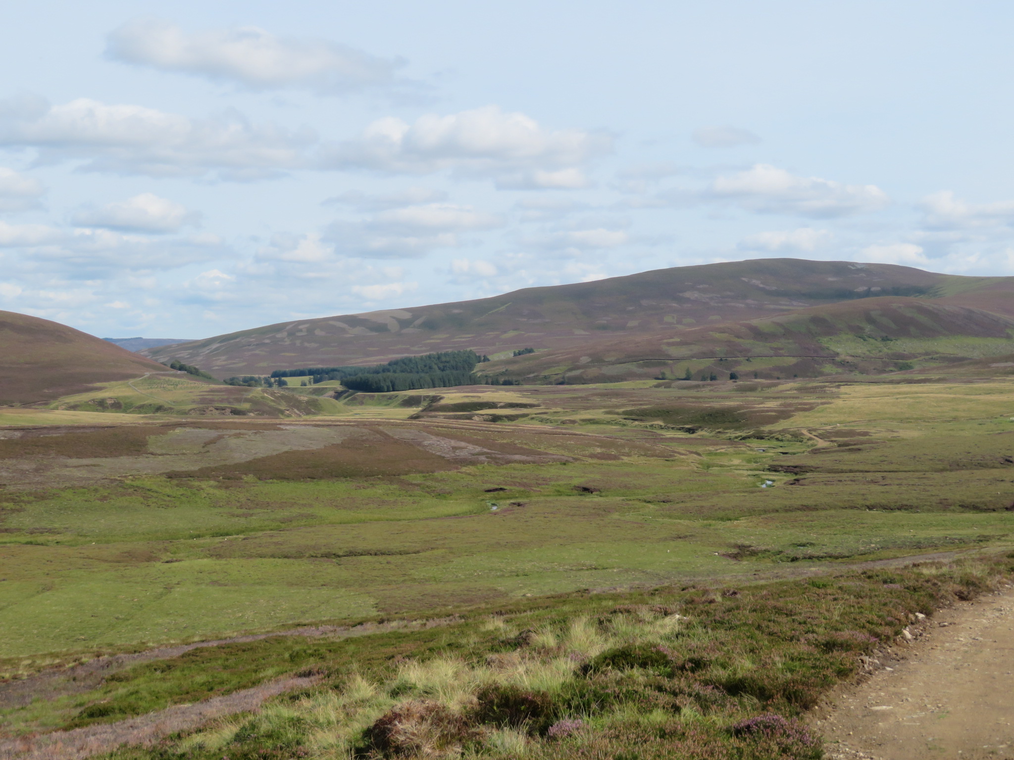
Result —
[[[318, 688], [157, 749], [157, 760], [817, 760], [802, 723], [916, 620], [1014, 572], [926, 563], [724, 591], [577, 595], [344, 663]], [[338, 672], [342, 671], [342, 672]]]

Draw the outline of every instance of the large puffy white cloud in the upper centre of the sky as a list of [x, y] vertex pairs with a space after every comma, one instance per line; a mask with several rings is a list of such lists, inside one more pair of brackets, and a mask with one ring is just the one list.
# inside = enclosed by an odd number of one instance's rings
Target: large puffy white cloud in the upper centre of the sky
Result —
[[[330, 149], [325, 164], [391, 173], [454, 169], [513, 175], [518, 170], [574, 168], [608, 151], [611, 137], [583, 130], [546, 130], [533, 119], [496, 105], [449, 116], [427, 113], [414, 124], [380, 119], [355, 141]], [[574, 175], [568, 175], [573, 180]], [[552, 176], [545, 175], [545, 181]], [[557, 181], [563, 181], [558, 176]]]

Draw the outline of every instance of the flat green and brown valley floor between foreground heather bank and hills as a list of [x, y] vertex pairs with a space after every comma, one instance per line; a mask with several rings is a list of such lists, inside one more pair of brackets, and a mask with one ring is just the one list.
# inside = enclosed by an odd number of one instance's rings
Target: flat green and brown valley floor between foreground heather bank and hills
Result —
[[[656, 385], [352, 397], [418, 420], [0, 431], [4, 670], [1011, 543], [1010, 382]], [[532, 416], [426, 411], [477, 403]]]

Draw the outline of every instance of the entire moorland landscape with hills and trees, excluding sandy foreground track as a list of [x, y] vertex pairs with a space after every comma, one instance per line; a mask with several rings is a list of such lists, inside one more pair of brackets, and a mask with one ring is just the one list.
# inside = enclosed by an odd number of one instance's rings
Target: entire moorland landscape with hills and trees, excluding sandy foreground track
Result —
[[1014, 278], [760, 259], [134, 348], [0, 312], [0, 758], [818, 758], [836, 689], [1014, 573]]

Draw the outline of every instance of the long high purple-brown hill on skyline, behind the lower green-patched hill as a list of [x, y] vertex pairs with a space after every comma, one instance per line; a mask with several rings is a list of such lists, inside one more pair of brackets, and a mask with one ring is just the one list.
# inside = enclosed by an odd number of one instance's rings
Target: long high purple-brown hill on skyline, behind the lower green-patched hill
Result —
[[[224, 378], [374, 364], [459, 349], [490, 356], [527, 347], [577, 350], [603, 339], [636, 340], [660, 331], [679, 333], [871, 297], [956, 294], [973, 301], [972, 291], [999, 282], [892, 264], [754, 259], [525, 288], [475, 301], [280, 322], [142, 353], [158, 361], [178, 359]], [[1000, 283], [998, 294], [1003, 287]]]

